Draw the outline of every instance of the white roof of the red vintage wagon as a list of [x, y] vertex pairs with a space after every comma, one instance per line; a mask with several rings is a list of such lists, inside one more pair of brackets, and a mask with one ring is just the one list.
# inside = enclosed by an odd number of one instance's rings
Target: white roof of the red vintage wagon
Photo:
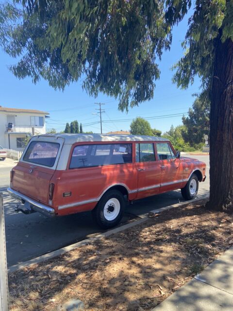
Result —
[[[34, 136], [33, 138], [63, 138], [65, 144], [73, 144], [75, 142], [90, 141], [169, 141], [166, 138], [144, 136], [144, 135], [112, 135], [112, 134], [46, 134]], [[47, 140], [47, 139], [46, 139]]]

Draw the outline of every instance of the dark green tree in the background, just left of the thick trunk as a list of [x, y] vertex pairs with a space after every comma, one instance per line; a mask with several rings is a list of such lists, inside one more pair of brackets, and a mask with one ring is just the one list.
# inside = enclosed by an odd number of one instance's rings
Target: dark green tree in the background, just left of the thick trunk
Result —
[[210, 132], [210, 101], [204, 96], [198, 97], [192, 108], [189, 108], [188, 117], [182, 118], [185, 130], [182, 136], [185, 142], [195, 147], [204, 142], [204, 135]]

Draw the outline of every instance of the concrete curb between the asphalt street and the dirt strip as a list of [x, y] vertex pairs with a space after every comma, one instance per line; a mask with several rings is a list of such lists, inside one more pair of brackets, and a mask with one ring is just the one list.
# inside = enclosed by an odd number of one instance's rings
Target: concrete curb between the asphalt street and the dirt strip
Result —
[[[170, 205], [168, 207], [162, 207], [162, 208], [158, 208], [158, 209], [154, 209], [154, 210], [151, 210], [149, 213], [148, 213], [148, 216], [152, 216], [154, 214], [157, 214], [157, 213], [161, 213], [163, 212], [164, 210], [167, 210], [167, 209], [171, 209], [171, 208], [174, 208], [174, 207], [182, 207], [182, 206], [187, 206], [189, 205], [190, 203], [192, 202], [198, 202], [199, 200], [202, 200], [202, 199], [205, 199], [205, 198], [208, 198], [209, 195], [202, 195], [200, 197], [198, 197], [197, 199], [194, 199], [194, 200], [190, 200], [190, 201], [185, 201], [185, 202], [180, 202], [180, 203], [177, 203], [177, 204], [173, 204], [173, 205]], [[58, 257], [62, 254], [65, 254], [75, 248], [78, 248], [80, 246], [83, 246], [83, 245], [86, 245], [88, 243], [92, 243], [92, 242], [95, 242], [97, 240], [100, 240], [100, 239], [103, 239], [103, 238], [106, 238], [106, 237], [109, 237], [110, 235], [112, 234], [115, 234], [115, 233], [118, 233], [120, 231], [124, 231], [126, 229], [129, 229], [135, 225], [140, 225], [144, 222], [146, 222], [149, 217], [146, 216], [145, 214], [143, 214], [143, 218], [139, 219], [139, 220], [136, 220], [134, 221], [133, 223], [129, 223], [127, 225], [122, 225], [120, 227], [117, 227], [117, 228], [114, 228], [112, 230], [108, 230], [106, 232], [103, 232], [103, 233], [100, 233], [98, 234], [97, 236], [95, 237], [92, 237], [92, 238], [88, 238], [86, 240], [83, 240], [83, 241], [80, 241], [80, 242], [77, 242], [77, 243], [74, 243], [74, 244], [71, 244], [69, 246], [66, 246], [66, 247], [63, 247], [63, 248], [60, 248], [60, 249], [57, 249], [53, 252], [50, 252], [48, 254], [45, 254], [45, 255], [42, 255], [42, 256], [39, 256], [39, 257], [36, 257], [36, 258], [33, 258], [33, 259], [30, 259], [28, 261], [24, 261], [22, 263], [18, 263], [14, 266], [11, 266], [8, 268], [8, 273], [12, 273], [12, 272], [15, 272], [19, 269], [23, 269], [25, 267], [30, 267], [32, 266], [33, 264], [36, 264], [36, 263], [40, 263], [40, 262], [43, 262], [45, 260], [48, 260], [48, 259], [52, 259], [52, 258], [55, 258], [55, 257]]]

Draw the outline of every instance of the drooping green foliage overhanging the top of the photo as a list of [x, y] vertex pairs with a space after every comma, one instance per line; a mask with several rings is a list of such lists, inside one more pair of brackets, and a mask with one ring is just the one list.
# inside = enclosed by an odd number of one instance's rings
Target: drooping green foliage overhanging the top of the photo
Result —
[[153, 97], [156, 57], [169, 49], [171, 31], [193, 3], [184, 56], [173, 81], [183, 88], [213, 78], [214, 42], [233, 39], [232, 0], [13, 0], [0, 5], [0, 45], [19, 57], [18, 78], [43, 77], [64, 89], [84, 76], [92, 96], [119, 97], [119, 108]]

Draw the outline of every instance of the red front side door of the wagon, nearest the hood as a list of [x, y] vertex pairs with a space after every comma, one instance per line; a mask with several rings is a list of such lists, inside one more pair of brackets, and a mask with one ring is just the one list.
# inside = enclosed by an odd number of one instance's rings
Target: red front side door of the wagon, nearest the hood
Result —
[[161, 167], [160, 193], [179, 189], [183, 182], [183, 164], [169, 142], [156, 142], [157, 156]]

